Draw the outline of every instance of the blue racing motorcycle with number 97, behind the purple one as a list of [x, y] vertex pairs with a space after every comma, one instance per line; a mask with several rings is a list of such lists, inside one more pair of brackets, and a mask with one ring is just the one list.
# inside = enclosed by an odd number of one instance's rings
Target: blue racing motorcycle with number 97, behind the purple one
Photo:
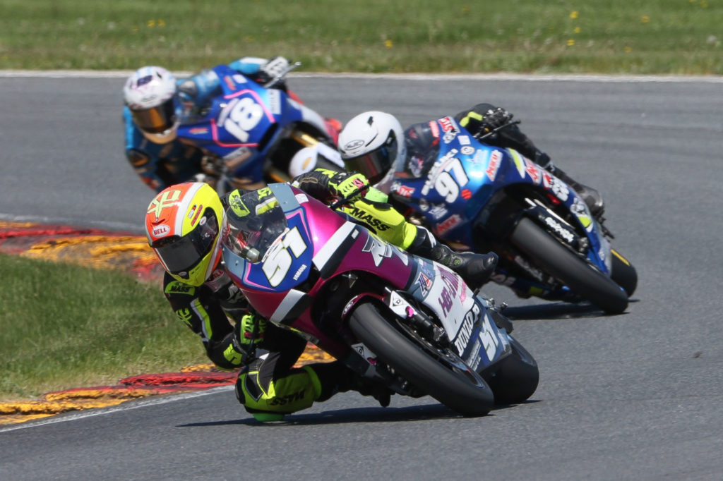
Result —
[[[437, 161], [401, 166], [390, 182], [392, 202], [412, 222], [460, 251], [495, 251], [492, 280], [517, 295], [621, 313], [637, 285], [636, 269], [610, 246], [614, 238], [580, 196], [514, 149], [484, 144], [454, 118], [433, 122]], [[404, 209], [401, 209], [404, 212]]]

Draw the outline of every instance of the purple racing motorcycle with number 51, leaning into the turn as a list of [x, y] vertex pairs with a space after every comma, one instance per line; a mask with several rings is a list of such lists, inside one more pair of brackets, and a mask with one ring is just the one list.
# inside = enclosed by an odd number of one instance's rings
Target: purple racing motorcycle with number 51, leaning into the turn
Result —
[[288, 183], [231, 194], [226, 270], [249, 304], [359, 375], [466, 416], [528, 399], [534, 358], [492, 299]]

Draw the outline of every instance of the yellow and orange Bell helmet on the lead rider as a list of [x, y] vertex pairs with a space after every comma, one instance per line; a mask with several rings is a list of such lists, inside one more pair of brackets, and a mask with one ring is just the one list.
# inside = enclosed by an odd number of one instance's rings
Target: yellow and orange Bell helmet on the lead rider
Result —
[[207, 183], [187, 182], [159, 192], [148, 204], [148, 245], [168, 274], [200, 286], [221, 260], [223, 206]]

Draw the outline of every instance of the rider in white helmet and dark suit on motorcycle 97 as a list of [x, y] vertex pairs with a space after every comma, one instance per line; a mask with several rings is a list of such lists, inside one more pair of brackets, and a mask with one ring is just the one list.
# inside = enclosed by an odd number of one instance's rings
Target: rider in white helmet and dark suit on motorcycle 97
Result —
[[[601, 217], [604, 204], [599, 192], [570, 178], [557, 168], [549, 155], [540, 151], [528, 136], [510, 123], [513, 115], [501, 107], [479, 103], [448, 118], [450, 129], [455, 121], [473, 136], [486, 136], [482, 142], [495, 147], [512, 148], [537, 165], [568, 183], [585, 201], [590, 212]], [[506, 125], [506, 126], [505, 126]], [[502, 129], [498, 129], [505, 126]], [[368, 111], [351, 118], [339, 133], [339, 151], [347, 170], [364, 174], [377, 188], [389, 193], [395, 172], [407, 172], [420, 177], [437, 162], [440, 132], [436, 121], [415, 123], [406, 130], [390, 113]]]

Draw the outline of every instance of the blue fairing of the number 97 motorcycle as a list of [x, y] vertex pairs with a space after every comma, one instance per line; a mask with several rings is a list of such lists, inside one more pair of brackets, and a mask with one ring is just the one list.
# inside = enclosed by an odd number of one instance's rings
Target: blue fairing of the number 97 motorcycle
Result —
[[486, 215], [495, 194], [514, 184], [536, 186], [573, 213], [587, 233], [588, 260], [609, 273], [609, 243], [585, 202], [567, 184], [514, 149], [482, 144], [448, 118], [437, 121], [445, 132], [437, 162], [427, 175], [398, 172], [390, 194], [422, 213], [435, 235], [461, 248], [474, 249], [474, 225]]

